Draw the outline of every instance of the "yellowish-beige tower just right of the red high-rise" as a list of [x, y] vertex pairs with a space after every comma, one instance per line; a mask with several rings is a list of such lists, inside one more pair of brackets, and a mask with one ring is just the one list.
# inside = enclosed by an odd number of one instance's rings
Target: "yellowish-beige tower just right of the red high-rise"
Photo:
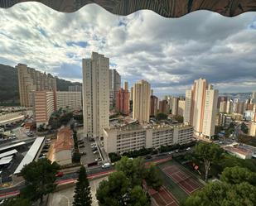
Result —
[[150, 89], [150, 84], [145, 80], [133, 85], [133, 119], [139, 122], [149, 122]]

